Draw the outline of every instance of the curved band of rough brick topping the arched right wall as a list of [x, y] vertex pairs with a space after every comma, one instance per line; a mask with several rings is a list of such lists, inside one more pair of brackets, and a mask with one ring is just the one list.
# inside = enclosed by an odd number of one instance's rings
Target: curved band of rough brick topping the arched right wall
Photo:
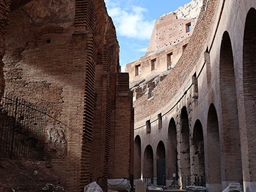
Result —
[[[133, 107], [135, 108], [135, 122], [149, 117], [152, 113], [156, 113], [157, 110], [163, 108], [170, 102], [171, 98], [175, 98], [179, 88], [187, 82], [187, 77], [189, 77], [199, 57], [201, 57], [201, 54], [205, 51], [203, 50], [203, 45], [210, 32], [215, 7], [216, 1], [209, 1], [207, 11], [201, 11], [199, 23], [197, 23], [197, 27], [191, 36], [187, 49], [174, 69], [170, 71], [169, 75], [154, 89], [154, 98], [148, 100], [148, 96], [144, 95], [133, 102]], [[163, 92], [162, 90], [166, 91]]]

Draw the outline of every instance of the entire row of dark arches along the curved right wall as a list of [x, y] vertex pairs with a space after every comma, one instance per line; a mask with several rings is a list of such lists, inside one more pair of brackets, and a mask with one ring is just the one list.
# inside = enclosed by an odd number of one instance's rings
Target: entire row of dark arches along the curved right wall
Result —
[[[221, 107], [218, 113], [221, 113], [221, 116], [218, 115], [214, 104], [210, 104], [206, 127], [203, 127], [201, 121], [197, 120], [191, 131], [187, 108], [183, 107], [179, 131], [177, 131], [174, 119], [171, 119], [168, 125], [166, 146], [163, 141], [159, 141], [155, 156], [150, 145], [146, 146], [144, 152], [141, 152], [141, 139], [137, 135], [135, 137], [137, 149], [135, 150], [137, 151], [135, 179], [147, 177], [152, 180], [157, 177], [157, 184], [164, 185], [165, 179], [171, 179], [172, 174], [177, 174], [179, 177], [191, 177], [192, 183], [193, 177], [202, 176], [208, 184], [221, 186], [223, 181], [243, 184], [246, 177], [243, 175], [242, 158], [250, 157], [242, 156], [241, 141], [243, 138], [241, 135], [245, 134], [241, 133], [241, 129], [243, 131], [246, 127], [247, 136], [250, 134], [255, 136], [253, 127], [256, 125], [255, 18], [256, 10], [251, 8], [247, 14], [243, 39], [243, 89], [237, 90], [238, 69], [236, 69], [237, 66], [234, 67], [232, 40], [226, 31], [222, 36], [220, 46]], [[242, 121], [241, 115], [239, 117], [238, 114], [238, 107], [241, 108], [238, 106], [238, 101], [240, 105], [241, 103], [244, 105], [245, 118]], [[193, 134], [190, 136], [191, 133]], [[249, 153], [249, 156], [250, 154], [253, 153]], [[141, 167], [141, 159], [143, 159], [143, 167]], [[253, 161], [253, 158], [249, 160], [249, 164], [253, 164]], [[160, 170], [158, 164], [164, 164], [164, 170]], [[154, 165], [157, 166], [156, 175], [154, 175]]]

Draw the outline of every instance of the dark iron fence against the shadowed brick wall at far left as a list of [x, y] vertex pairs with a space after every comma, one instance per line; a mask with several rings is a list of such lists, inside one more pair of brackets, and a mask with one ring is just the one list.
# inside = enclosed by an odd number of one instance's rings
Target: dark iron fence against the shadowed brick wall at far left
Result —
[[46, 115], [46, 108], [5, 94], [0, 105], [0, 156], [42, 159]]

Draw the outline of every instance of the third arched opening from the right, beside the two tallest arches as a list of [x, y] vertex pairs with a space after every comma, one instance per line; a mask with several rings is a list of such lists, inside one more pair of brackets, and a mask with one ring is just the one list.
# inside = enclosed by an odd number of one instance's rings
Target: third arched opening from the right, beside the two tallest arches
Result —
[[214, 104], [210, 105], [207, 117], [207, 158], [206, 183], [209, 185], [209, 191], [222, 191], [218, 115]]

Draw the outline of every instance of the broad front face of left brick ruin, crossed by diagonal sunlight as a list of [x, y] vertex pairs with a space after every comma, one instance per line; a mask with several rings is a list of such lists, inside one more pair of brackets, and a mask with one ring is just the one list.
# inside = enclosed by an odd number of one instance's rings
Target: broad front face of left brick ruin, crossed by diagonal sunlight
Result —
[[3, 57], [5, 92], [46, 106], [47, 113], [61, 122], [54, 126], [65, 134], [67, 154], [57, 158], [45, 146], [45, 158], [51, 159], [69, 191], [90, 182], [90, 172], [82, 164], [88, 166], [90, 145], [84, 137], [90, 139], [92, 127], [84, 125], [84, 113], [89, 115], [88, 104], [94, 105], [88, 100], [94, 91], [85, 93], [94, 40], [92, 32], [75, 31], [75, 11], [75, 1], [66, 0], [30, 1], [11, 11]]

